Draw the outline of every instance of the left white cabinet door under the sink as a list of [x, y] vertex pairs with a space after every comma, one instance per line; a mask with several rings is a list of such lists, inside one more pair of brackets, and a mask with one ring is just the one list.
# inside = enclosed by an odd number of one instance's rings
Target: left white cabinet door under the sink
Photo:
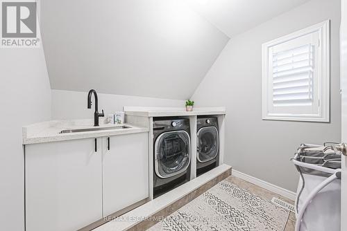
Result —
[[78, 230], [102, 219], [102, 147], [96, 140], [26, 145], [26, 231]]

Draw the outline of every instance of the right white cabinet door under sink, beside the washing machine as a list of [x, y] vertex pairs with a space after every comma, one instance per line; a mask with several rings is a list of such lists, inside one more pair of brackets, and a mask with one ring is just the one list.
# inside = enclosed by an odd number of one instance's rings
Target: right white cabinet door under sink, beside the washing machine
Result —
[[149, 196], [148, 133], [104, 139], [103, 214], [108, 216]]

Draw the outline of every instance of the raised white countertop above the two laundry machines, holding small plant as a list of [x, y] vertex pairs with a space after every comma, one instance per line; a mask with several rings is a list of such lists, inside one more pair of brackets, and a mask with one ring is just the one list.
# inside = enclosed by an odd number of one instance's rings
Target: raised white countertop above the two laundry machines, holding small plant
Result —
[[185, 111], [185, 107], [124, 107], [126, 115], [143, 117], [187, 116], [187, 115], [225, 115], [225, 107], [196, 107]]

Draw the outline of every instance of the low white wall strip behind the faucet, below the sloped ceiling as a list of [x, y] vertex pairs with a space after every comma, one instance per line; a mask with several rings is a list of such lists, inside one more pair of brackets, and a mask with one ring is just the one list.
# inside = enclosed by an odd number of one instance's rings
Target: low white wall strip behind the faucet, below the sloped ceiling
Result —
[[[92, 104], [92, 109], [87, 109], [87, 95], [87, 92], [52, 90], [52, 118], [57, 120], [94, 118], [94, 104]], [[98, 99], [99, 112], [104, 109], [105, 115], [115, 111], [123, 111], [124, 106], [185, 107], [185, 100], [167, 100], [131, 95], [98, 93]], [[92, 102], [94, 102], [94, 96]]]

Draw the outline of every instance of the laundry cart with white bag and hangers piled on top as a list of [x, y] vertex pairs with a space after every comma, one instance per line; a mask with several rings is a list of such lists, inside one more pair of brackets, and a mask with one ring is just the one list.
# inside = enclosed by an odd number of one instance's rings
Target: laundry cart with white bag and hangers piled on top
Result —
[[301, 145], [291, 161], [301, 175], [296, 231], [340, 231], [341, 151], [335, 144]]

